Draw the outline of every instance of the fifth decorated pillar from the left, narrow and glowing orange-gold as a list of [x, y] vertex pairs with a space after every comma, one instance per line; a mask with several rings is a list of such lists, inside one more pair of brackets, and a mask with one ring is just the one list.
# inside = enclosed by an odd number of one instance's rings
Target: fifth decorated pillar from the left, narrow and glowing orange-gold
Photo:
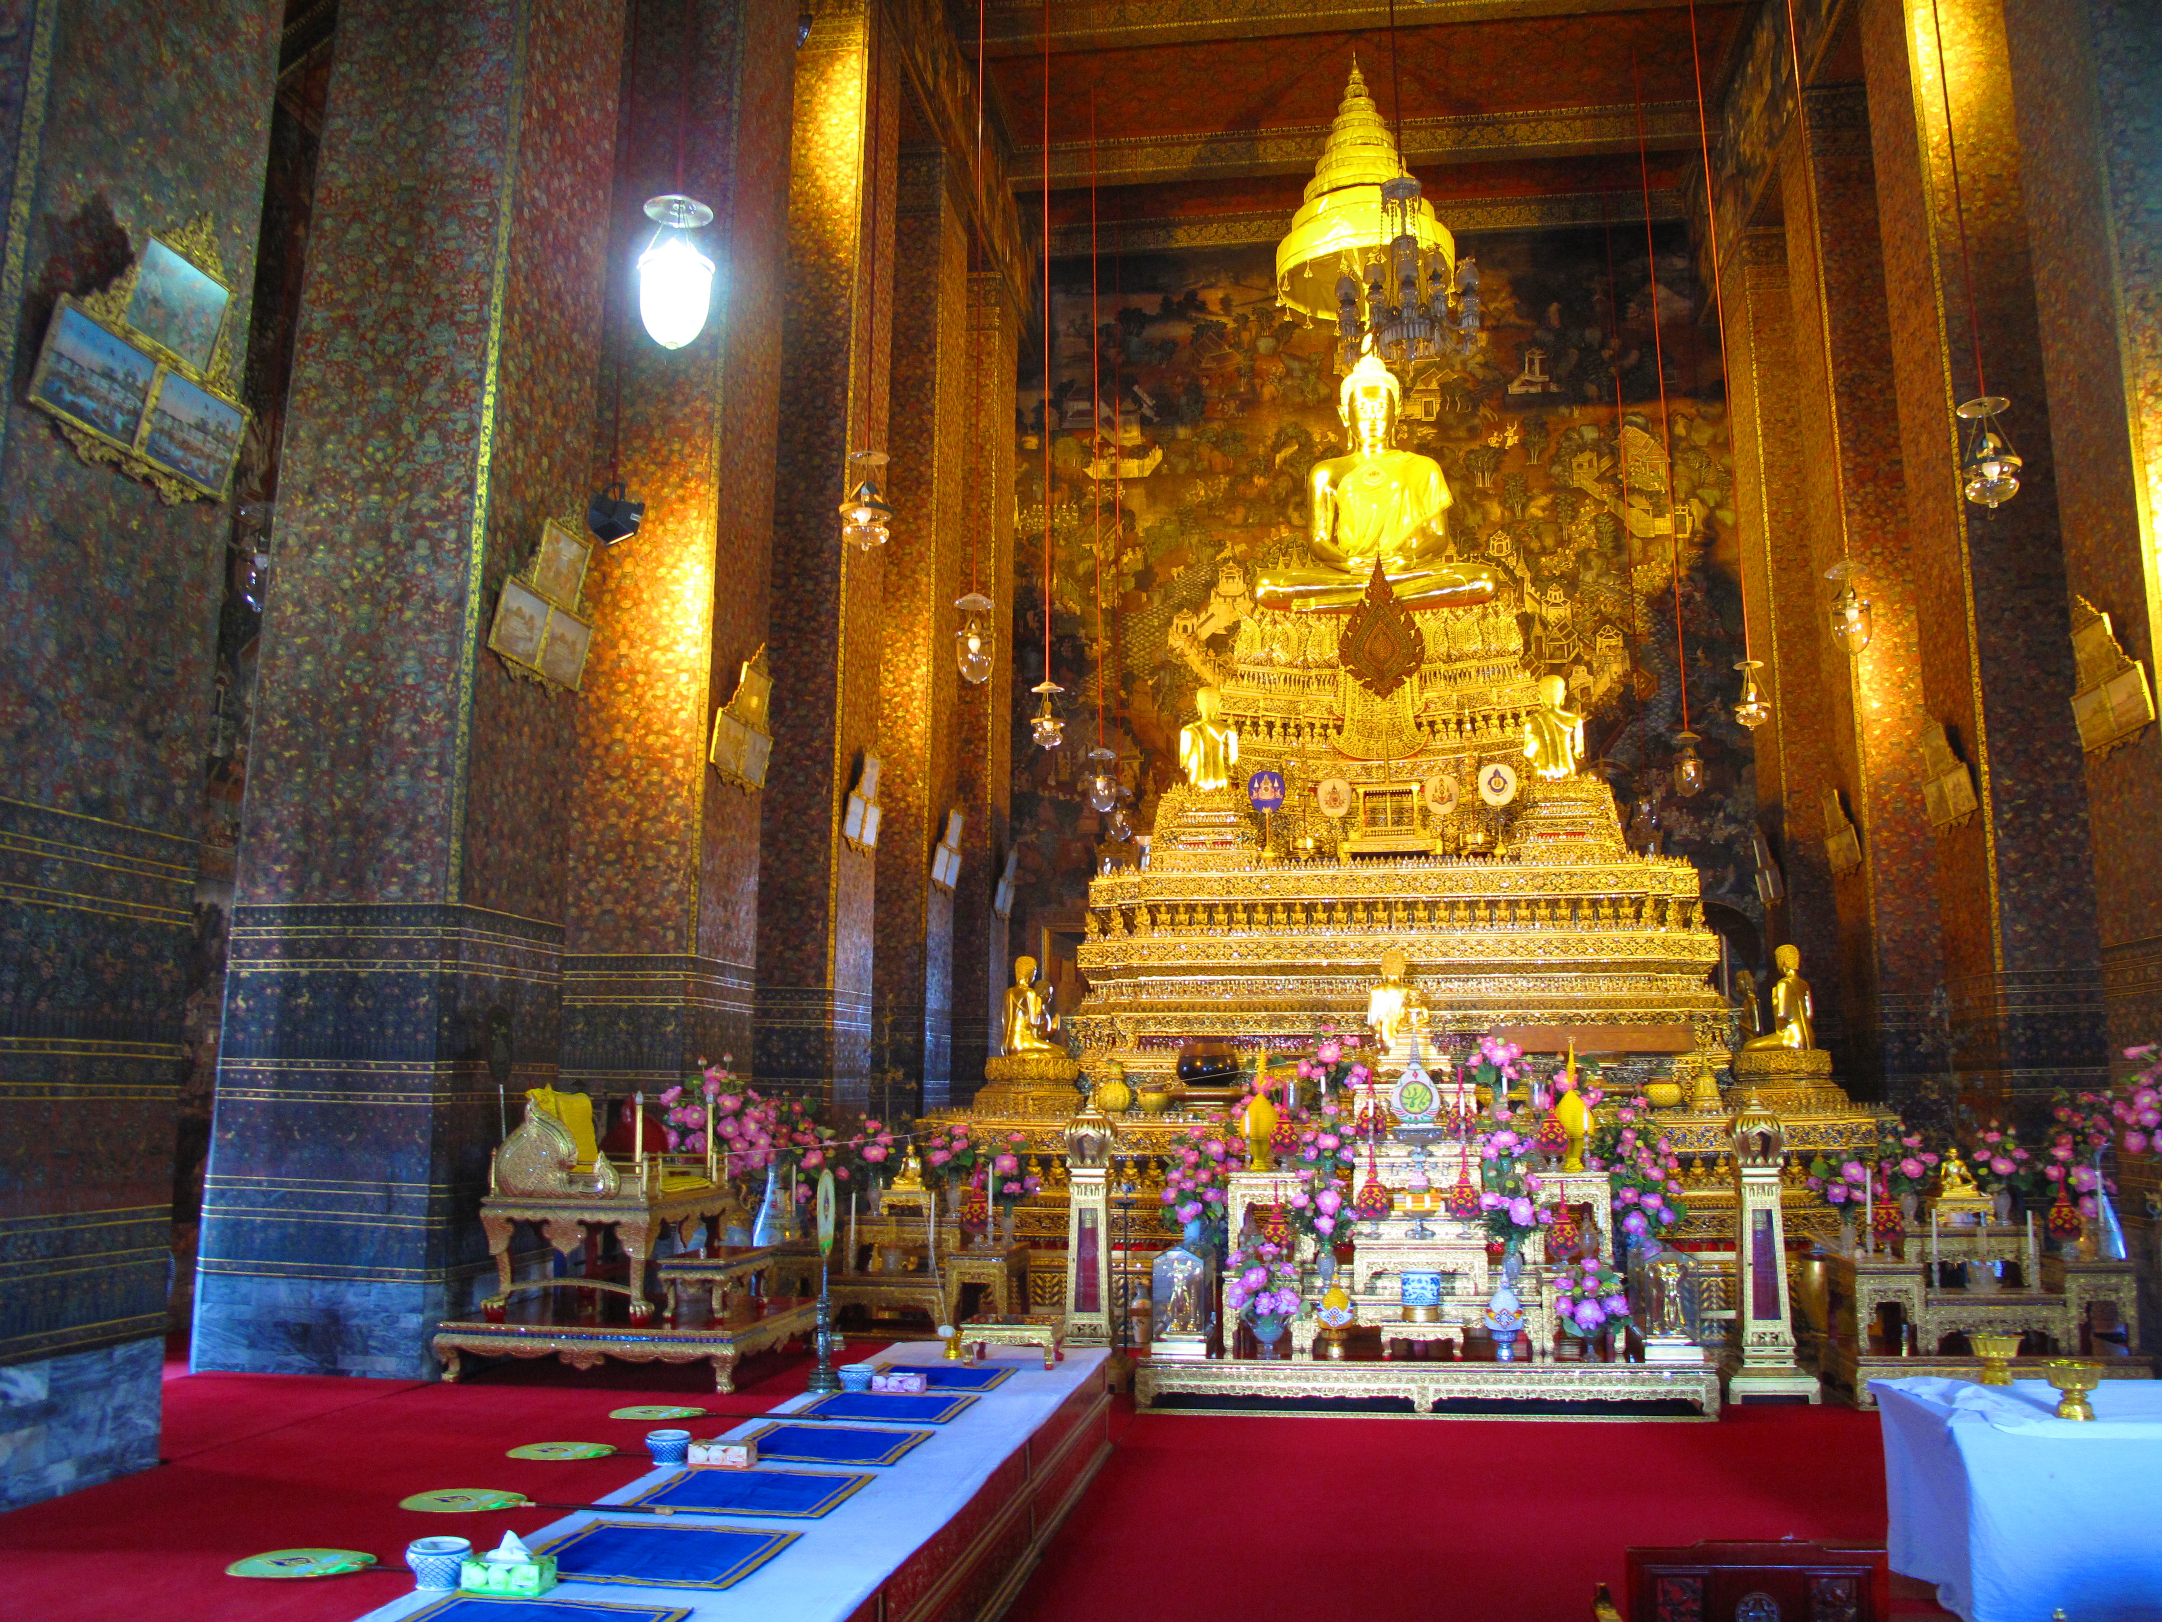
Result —
[[[884, 742], [878, 833], [878, 1073], [921, 1105], [951, 1094], [953, 887], [940, 854], [956, 805], [953, 599], [966, 590], [969, 238], [953, 188], [964, 175], [936, 147], [902, 154], [893, 244], [893, 541], [886, 545]], [[886, 1088], [891, 1092], [891, 1088]], [[917, 1096], [878, 1109], [912, 1109]]]

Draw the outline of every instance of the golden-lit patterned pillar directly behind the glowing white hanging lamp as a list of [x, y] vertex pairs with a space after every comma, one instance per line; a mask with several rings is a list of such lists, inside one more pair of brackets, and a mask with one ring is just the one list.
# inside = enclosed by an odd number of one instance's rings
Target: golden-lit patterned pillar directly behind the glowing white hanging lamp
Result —
[[[750, 1064], [761, 789], [707, 755], [768, 629], [793, 74], [789, 0], [627, 15], [590, 482], [644, 521], [588, 586], [562, 962], [562, 1079], [601, 1094]], [[677, 350], [638, 318], [666, 192], [713, 210], [713, 307]]]

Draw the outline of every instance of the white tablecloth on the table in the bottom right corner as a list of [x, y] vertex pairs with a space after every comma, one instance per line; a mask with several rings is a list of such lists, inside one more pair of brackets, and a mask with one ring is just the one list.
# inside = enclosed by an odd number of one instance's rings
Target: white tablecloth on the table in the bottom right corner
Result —
[[2093, 1421], [2043, 1380], [1872, 1380], [1892, 1570], [1967, 1622], [2162, 1622], [2162, 1384], [2104, 1380]]

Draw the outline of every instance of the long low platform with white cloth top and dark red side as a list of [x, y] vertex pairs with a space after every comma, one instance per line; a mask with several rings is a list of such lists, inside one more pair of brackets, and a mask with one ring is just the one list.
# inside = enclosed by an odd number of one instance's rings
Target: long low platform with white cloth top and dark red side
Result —
[[[800, 1533], [793, 1544], [733, 1587], [700, 1592], [636, 1583], [566, 1581], [545, 1598], [577, 1605], [649, 1607], [683, 1611], [688, 1622], [966, 1622], [997, 1616], [1020, 1590], [1042, 1546], [1079, 1503], [1111, 1451], [1111, 1393], [1100, 1347], [1072, 1352], [1055, 1369], [1029, 1352], [995, 1360], [1010, 1378], [943, 1425], [893, 1425], [930, 1436], [895, 1464], [869, 1471], [873, 1479], [830, 1514], [815, 1520], [776, 1520], [750, 1514], [677, 1514], [670, 1523], [700, 1527], [759, 1527]], [[945, 1360], [940, 1343], [895, 1345], [880, 1362], [917, 1367], [971, 1367]], [[776, 1419], [800, 1412], [815, 1397], [791, 1397], [733, 1430], [694, 1436], [750, 1436]], [[856, 1423], [856, 1421], [850, 1421]], [[817, 1471], [787, 1464], [789, 1471]], [[835, 1475], [863, 1471], [835, 1468]], [[599, 1503], [631, 1503], [668, 1481], [675, 1471], [646, 1471]], [[549, 1544], [605, 1520], [577, 1512], [530, 1535]], [[473, 1544], [493, 1544], [499, 1529], [486, 1516], [456, 1531]], [[406, 1594], [370, 1611], [361, 1622], [400, 1622], [441, 1598]], [[592, 1622], [608, 1622], [595, 1609]]]

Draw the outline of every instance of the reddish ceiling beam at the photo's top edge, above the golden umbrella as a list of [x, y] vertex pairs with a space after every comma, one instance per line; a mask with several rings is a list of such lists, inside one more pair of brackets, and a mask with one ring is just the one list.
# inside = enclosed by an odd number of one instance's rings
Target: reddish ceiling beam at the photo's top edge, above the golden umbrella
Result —
[[[1403, 28], [1520, 17], [1593, 17], [1609, 11], [1673, 11], [1689, 0], [1401, 0]], [[1036, 56], [1044, 48], [1040, 0], [999, 0], [984, 13], [986, 56]], [[1375, 0], [1059, 0], [1051, 50], [1185, 45], [1204, 39], [1273, 39], [1388, 28]], [[971, 41], [973, 43], [973, 41]]]

